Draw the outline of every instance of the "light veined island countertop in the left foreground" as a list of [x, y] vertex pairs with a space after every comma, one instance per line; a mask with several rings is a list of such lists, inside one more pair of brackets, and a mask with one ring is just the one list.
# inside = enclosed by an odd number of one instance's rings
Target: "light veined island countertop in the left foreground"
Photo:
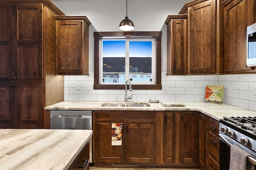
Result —
[[66, 170], [91, 130], [0, 129], [1, 170]]

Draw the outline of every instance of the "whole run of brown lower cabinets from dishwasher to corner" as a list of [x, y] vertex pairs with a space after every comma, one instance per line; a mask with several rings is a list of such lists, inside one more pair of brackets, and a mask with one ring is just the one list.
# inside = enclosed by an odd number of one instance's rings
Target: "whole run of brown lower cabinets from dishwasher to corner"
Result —
[[[95, 166], [199, 167], [198, 112], [93, 111]], [[122, 123], [112, 146], [111, 124]]]

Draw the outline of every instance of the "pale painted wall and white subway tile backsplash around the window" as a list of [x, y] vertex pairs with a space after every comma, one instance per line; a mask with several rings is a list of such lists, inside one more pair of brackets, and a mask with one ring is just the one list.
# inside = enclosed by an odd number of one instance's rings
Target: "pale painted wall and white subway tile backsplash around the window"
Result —
[[[223, 102], [256, 111], [256, 74], [166, 76], [166, 25], [169, 14], [178, 14], [189, 0], [128, 0], [128, 17], [134, 31], [162, 31], [162, 85], [164, 90], [133, 90], [130, 101], [203, 101], [206, 85], [224, 85]], [[66, 15], [86, 15], [89, 27], [89, 76], [65, 76], [64, 100], [124, 101], [124, 90], [86, 90], [94, 83], [94, 31], [120, 31], [125, 0], [52, 0]], [[76, 84], [80, 83], [80, 90]], [[189, 85], [193, 90], [189, 90]]]

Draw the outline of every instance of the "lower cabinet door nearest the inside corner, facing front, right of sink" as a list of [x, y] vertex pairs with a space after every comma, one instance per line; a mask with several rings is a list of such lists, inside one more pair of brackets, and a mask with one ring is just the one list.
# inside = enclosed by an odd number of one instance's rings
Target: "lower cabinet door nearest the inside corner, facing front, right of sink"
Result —
[[180, 112], [178, 123], [179, 162], [198, 164], [198, 113]]

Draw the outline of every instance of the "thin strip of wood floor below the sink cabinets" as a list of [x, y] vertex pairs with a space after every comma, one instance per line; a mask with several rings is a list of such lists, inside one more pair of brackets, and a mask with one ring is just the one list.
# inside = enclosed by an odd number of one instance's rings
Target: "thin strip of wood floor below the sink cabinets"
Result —
[[201, 169], [186, 169], [186, 168], [118, 168], [118, 167], [95, 167], [90, 166], [90, 170], [201, 170]]

